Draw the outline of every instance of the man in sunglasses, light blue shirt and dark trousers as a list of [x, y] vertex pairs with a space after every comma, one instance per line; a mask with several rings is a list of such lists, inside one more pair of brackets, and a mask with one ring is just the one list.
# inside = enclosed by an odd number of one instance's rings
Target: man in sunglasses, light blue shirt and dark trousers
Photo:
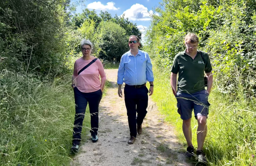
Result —
[[[125, 83], [124, 100], [127, 109], [130, 128], [130, 140], [133, 144], [137, 135], [142, 133], [142, 122], [147, 114], [148, 95], [153, 94], [153, 71], [148, 53], [138, 49], [139, 38], [131, 35], [129, 38], [130, 51], [123, 54], [118, 68], [118, 95], [122, 97], [121, 86]], [[149, 81], [149, 90], [146, 83]], [[137, 112], [137, 117], [136, 117]], [[137, 128], [136, 128], [137, 124]]]

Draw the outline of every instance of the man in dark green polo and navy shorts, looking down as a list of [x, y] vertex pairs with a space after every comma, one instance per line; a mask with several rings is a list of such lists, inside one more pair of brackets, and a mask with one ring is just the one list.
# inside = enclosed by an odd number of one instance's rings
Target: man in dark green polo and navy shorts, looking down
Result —
[[[213, 85], [212, 65], [209, 55], [197, 50], [198, 37], [196, 34], [188, 33], [185, 36], [185, 44], [187, 47], [185, 51], [178, 53], [173, 61], [171, 87], [177, 99], [178, 113], [183, 120], [182, 129], [188, 144], [186, 155], [189, 157], [198, 156], [199, 162], [207, 162], [203, 145], [207, 133], [206, 119], [210, 105], [208, 96]], [[204, 72], [207, 77], [207, 90], [204, 88]], [[191, 118], [193, 109], [198, 122], [196, 155], [192, 145]]]

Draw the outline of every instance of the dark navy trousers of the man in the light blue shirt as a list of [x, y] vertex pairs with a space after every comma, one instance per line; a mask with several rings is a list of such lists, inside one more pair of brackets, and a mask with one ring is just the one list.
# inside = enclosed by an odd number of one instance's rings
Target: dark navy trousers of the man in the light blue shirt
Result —
[[[130, 136], [136, 137], [137, 126], [141, 125], [146, 114], [148, 104], [148, 89], [146, 86], [135, 88], [134, 86], [125, 85], [124, 101], [127, 109]], [[137, 112], [137, 117], [136, 117]]]

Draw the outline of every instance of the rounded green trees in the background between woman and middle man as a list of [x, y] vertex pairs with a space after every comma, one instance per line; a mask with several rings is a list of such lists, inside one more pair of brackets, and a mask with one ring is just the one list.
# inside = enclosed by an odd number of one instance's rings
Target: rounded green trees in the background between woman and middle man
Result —
[[[72, 26], [67, 33], [67, 41], [71, 42], [70, 44], [68, 43], [68, 51], [73, 56], [79, 54], [80, 39], [86, 38], [95, 44], [93, 53], [96, 57], [109, 62], [112, 62], [113, 57], [116, 57], [117, 61], [120, 61], [122, 54], [129, 49], [127, 44], [129, 36], [136, 35], [141, 38], [141, 32], [136, 24], [128, 21], [128, 18], [124, 18], [124, 16], [118, 17], [115, 15], [112, 18], [107, 11], [101, 11], [99, 15], [95, 10], [85, 9], [82, 14], [74, 14], [72, 16]], [[95, 30], [92, 29], [93, 27]], [[69, 33], [71, 34], [69, 35]], [[76, 46], [74, 45], [75, 43]], [[71, 60], [71, 58], [67, 59], [69, 59], [68, 61]]]

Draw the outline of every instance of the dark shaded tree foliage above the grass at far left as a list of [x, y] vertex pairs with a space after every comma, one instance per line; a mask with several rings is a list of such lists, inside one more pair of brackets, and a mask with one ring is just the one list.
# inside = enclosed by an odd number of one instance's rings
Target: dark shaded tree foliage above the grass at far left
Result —
[[0, 3], [1, 69], [61, 72], [68, 0]]

